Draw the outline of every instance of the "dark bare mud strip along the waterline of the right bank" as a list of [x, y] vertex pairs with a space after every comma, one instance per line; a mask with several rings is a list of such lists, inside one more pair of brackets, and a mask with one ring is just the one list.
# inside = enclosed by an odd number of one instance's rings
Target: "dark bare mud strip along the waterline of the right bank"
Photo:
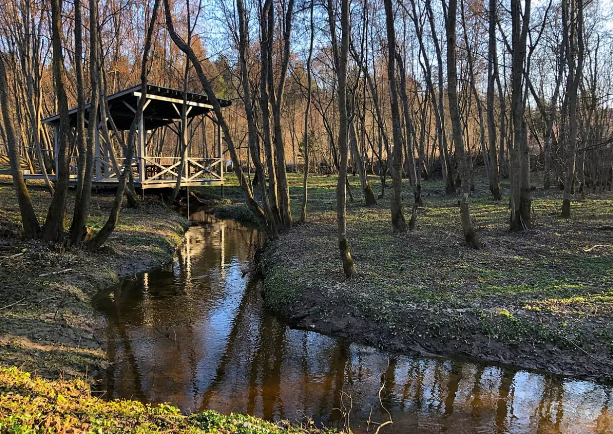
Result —
[[[309, 302], [305, 303], [305, 299]], [[322, 314], [322, 305], [327, 306], [325, 314]], [[356, 318], [355, 312], [346, 312], [346, 306], [346, 302], [341, 300], [331, 305], [326, 295], [308, 291], [300, 303], [289, 310], [277, 312], [297, 329], [347, 338], [383, 351], [409, 356], [447, 356], [477, 363], [492, 362], [553, 375], [612, 383], [613, 365], [606, 346], [593, 347], [590, 352], [582, 353], [560, 348], [553, 343], [535, 345], [525, 342], [509, 345], [479, 333], [481, 322], [474, 314], [465, 312], [441, 318], [441, 322], [451, 324], [437, 326], [435, 330], [424, 325], [432, 321], [433, 314], [432, 311], [424, 310], [407, 312], [405, 321], [390, 327]]]

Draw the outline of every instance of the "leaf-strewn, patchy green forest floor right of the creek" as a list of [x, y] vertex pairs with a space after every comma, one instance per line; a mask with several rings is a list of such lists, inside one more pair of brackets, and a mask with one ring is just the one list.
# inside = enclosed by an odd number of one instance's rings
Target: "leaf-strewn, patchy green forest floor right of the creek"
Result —
[[[292, 325], [387, 351], [613, 380], [611, 192], [588, 191], [583, 201], [575, 196], [572, 218], [560, 219], [562, 192], [536, 189], [534, 229], [512, 233], [507, 203], [492, 200], [479, 178], [471, 214], [483, 248], [475, 251], [462, 237], [458, 197], [444, 194], [440, 181], [422, 183], [424, 207], [416, 226], [394, 234], [389, 188], [368, 208], [358, 178], [349, 180], [354, 202], [348, 201], [347, 226], [356, 278], [345, 280], [338, 257], [335, 177], [310, 177], [307, 223], [265, 251], [265, 300]], [[378, 177], [370, 181], [378, 194]], [[290, 174], [290, 183], [298, 218], [302, 174]], [[533, 179], [533, 185], [540, 183]], [[410, 211], [406, 181], [403, 191]], [[508, 194], [506, 180], [503, 191]], [[234, 204], [220, 212], [243, 215], [238, 188], [225, 192]]]

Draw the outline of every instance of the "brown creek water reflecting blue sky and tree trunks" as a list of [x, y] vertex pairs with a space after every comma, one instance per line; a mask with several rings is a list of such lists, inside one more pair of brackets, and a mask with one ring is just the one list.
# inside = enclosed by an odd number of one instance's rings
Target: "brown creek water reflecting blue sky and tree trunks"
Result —
[[257, 230], [204, 212], [191, 219], [172, 265], [97, 300], [113, 362], [105, 397], [355, 433], [390, 417], [381, 433], [613, 433], [611, 387], [386, 354], [287, 327], [264, 309], [249, 273]]

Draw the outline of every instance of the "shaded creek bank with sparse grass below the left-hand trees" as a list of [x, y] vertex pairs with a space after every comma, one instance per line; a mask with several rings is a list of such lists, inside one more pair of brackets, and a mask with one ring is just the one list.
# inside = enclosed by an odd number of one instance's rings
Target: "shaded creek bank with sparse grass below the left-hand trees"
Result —
[[[43, 221], [50, 197], [42, 185], [29, 190]], [[124, 207], [109, 243], [85, 253], [21, 240], [8, 178], [0, 178], [0, 202], [0, 362], [45, 378], [92, 378], [104, 367], [105, 357], [91, 297], [120, 276], [171, 261], [188, 223], [155, 200], [137, 210]], [[88, 225], [94, 230], [104, 225], [112, 202], [112, 192], [92, 197]], [[71, 209], [67, 216], [72, 216]], [[51, 274], [56, 272], [62, 273]]]

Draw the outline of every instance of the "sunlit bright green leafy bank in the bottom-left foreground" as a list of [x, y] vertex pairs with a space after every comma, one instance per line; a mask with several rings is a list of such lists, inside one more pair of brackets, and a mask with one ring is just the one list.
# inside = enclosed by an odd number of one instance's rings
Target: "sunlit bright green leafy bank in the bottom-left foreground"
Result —
[[32, 378], [17, 368], [0, 367], [0, 391], [2, 433], [324, 433], [240, 414], [224, 416], [205, 411], [183, 416], [169, 405], [107, 402], [91, 397], [83, 381]]

